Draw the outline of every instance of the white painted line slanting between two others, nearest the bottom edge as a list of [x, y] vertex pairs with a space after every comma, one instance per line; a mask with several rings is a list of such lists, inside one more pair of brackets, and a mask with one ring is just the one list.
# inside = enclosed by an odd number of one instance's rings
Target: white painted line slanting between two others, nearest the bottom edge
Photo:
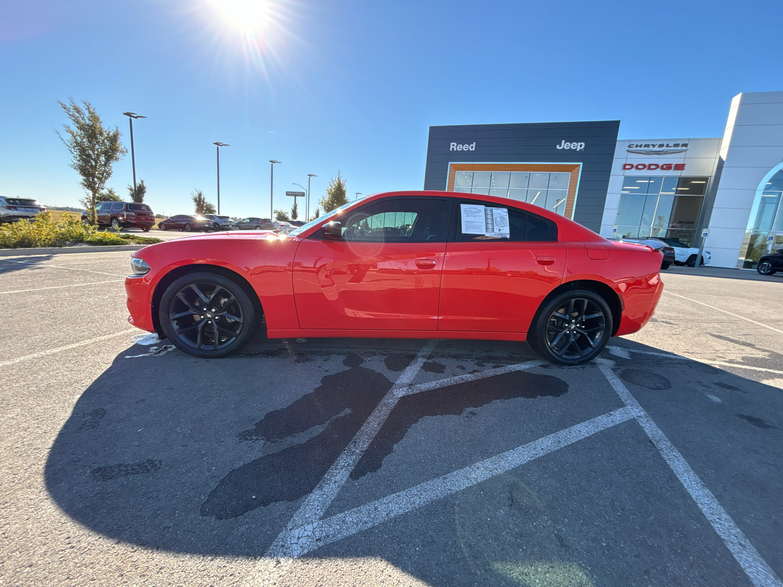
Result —
[[472, 487], [616, 424], [632, 420], [635, 416], [633, 408], [617, 409], [394, 495], [338, 513], [325, 520], [306, 524], [301, 528], [294, 528], [290, 531], [290, 546], [283, 552], [271, 552], [270, 549], [267, 556], [303, 556], [330, 542], [348, 538], [357, 532], [383, 524], [393, 517]]

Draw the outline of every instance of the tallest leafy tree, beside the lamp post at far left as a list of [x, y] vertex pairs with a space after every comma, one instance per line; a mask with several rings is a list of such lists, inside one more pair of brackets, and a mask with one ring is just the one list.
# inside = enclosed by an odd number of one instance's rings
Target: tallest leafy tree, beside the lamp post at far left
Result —
[[59, 131], [56, 131], [57, 136], [70, 153], [70, 167], [81, 175], [81, 187], [88, 194], [85, 199], [88, 205], [85, 207], [90, 222], [96, 224], [96, 202], [99, 193], [109, 181], [114, 164], [128, 153], [128, 149], [120, 142], [120, 129], [116, 126], [104, 127], [96, 109], [87, 100], [82, 100], [81, 106], [70, 97], [67, 104], [60, 100], [57, 100], [57, 103], [70, 120], [70, 124], [63, 124], [67, 138], [63, 138]]

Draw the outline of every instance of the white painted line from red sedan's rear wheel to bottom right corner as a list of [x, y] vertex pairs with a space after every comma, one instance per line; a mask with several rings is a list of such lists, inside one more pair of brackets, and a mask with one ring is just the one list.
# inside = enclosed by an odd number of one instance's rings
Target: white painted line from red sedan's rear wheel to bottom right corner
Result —
[[636, 398], [631, 395], [625, 384], [619, 380], [610, 363], [604, 358], [597, 358], [596, 362], [598, 363], [598, 368], [601, 369], [601, 373], [604, 373], [604, 376], [620, 396], [622, 402], [636, 413], [637, 422], [648, 435], [652, 444], [655, 445], [655, 448], [658, 448], [661, 456], [666, 460], [674, 474], [677, 475], [680, 483], [683, 484], [685, 490], [696, 502], [699, 510], [702, 510], [709, 523], [712, 524], [720, 538], [723, 539], [723, 543], [731, 554], [734, 555], [734, 558], [740, 564], [742, 570], [745, 571], [745, 574], [748, 575], [753, 585], [756, 585], [756, 587], [783, 587], [783, 582], [775, 575], [767, 561], [763, 560], [756, 547], [750, 543], [748, 538], [745, 538], [745, 534], [742, 533], [737, 524], [734, 524], [734, 520], [731, 519], [727, 511], [723, 510], [723, 506], [715, 499], [713, 492], [709, 491], [709, 488], [695, 474], [695, 471], [691, 469], [684, 457], [680, 455], [677, 448], [674, 448], [669, 438], [666, 438], [666, 434], [663, 434], [662, 430], [652, 421]]

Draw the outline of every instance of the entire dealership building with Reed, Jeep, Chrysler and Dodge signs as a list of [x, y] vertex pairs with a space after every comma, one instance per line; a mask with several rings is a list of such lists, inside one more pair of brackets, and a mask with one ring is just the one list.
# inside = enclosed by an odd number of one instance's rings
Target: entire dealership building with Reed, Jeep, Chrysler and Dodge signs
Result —
[[602, 236], [702, 244], [718, 267], [783, 248], [783, 92], [734, 96], [723, 137], [618, 140], [620, 121], [430, 127], [424, 189], [541, 206]]

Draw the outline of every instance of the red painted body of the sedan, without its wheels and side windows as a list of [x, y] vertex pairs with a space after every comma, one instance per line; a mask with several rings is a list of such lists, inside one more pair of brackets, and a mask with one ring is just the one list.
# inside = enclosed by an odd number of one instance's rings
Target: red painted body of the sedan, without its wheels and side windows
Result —
[[[556, 242], [345, 243], [309, 238], [327, 221], [384, 197], [482, 200], [557, 224]], [[600, 292], [612, 336], [648, 322], [661, 296], [661, 254], [617, 243], [517, 200], [453, 192], [392, 192], [358, 200], [298, 236], [248, 231], [191, 236], [133, 254], [150, 265], [125, 280], [128, 319], [161, 332], [157, 304], [175, 279], [208, 266], [247, 282], [270, 338], [386, 337], [525, 340], [536, 310], [565, 286]]]

